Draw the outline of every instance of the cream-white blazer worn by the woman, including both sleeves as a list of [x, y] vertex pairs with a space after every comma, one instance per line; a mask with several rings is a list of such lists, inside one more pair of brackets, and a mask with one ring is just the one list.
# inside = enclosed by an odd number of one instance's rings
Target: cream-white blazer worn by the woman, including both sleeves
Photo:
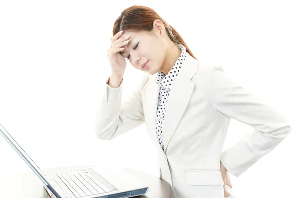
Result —
[[[220, 161], [236, 177], [275, 148], [291, 132], [287, 118], [231, 79], [220, 65], [187, 58], [168, 98], [163, 122], [164, 151], [156, 135], [159, 86], [146, 74], [122, 101], [122, 85], [107, 84], [99, 104], [95, 133], [112, 140], [145, 123], [157, 148], [160, 174], [175, 198], [224, 198]], [[106, 83], [109, 77], [106, 79]], [[222, 152], [230, 118], [254, 130]], [[228, 187], [229, 198], [235, 198]]]

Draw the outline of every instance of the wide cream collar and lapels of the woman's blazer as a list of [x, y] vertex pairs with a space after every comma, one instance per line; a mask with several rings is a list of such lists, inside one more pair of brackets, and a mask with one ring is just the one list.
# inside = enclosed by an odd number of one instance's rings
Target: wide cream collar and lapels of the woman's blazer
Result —
[[187, 52], [187, 58], [183, 64], [179, 75], [172, 84], [165, 118], [162, 124], [164, 152], [158, 142], [156, 134], [156, 111], [160, 91], [159, 85], [155, 82], [157, 73], [150, 75], [148, 83], [143, 88], [144, 108], [146, 109], [145, 120], [148, 134], [151, 136], [153, 143], [157, 146], [158, 151], [162, 151], [165, 154], [167, 146], [186, 110], [195, 87], [191, 79], [198, 71], [198, 60]]

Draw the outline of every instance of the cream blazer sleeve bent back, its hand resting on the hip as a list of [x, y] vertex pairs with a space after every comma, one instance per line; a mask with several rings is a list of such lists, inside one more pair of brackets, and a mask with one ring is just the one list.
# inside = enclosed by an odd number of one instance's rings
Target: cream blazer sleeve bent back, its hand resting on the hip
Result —
[[222, 117], [229, 117], [254, 128], [243, 139], [221, 153], [221, 162], [239, 177], [263, 155], [270, 152], [291, 132], [288, 119], [230, 78], [222, 66], [209, 70], [205, 94]]

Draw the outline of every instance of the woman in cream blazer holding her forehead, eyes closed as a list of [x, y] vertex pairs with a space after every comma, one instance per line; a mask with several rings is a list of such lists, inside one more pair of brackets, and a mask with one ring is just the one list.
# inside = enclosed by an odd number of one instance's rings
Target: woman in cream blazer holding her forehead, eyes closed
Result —
[[[121, 13], [107, 56], [111, 75], [96, 135], [112, 140], [146, 123], [158, 152], [159, 176], [175, 198], [235, 198], [228, 171], [240, 176], [291, 131], [284, 116], [228, 77], [222, 66], [198, 61], [151, 8], [131, 6]], [[125, 58], [146, 73], [122, 101]], [[254, 130], [222, 152], [230, 118]]]

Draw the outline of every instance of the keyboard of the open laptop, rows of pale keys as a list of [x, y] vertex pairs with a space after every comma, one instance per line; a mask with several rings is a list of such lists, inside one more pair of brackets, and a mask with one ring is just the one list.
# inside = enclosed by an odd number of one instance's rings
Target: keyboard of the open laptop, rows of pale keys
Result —
[[89, 169], [56, 174], [77, 198], [111, 192]]

